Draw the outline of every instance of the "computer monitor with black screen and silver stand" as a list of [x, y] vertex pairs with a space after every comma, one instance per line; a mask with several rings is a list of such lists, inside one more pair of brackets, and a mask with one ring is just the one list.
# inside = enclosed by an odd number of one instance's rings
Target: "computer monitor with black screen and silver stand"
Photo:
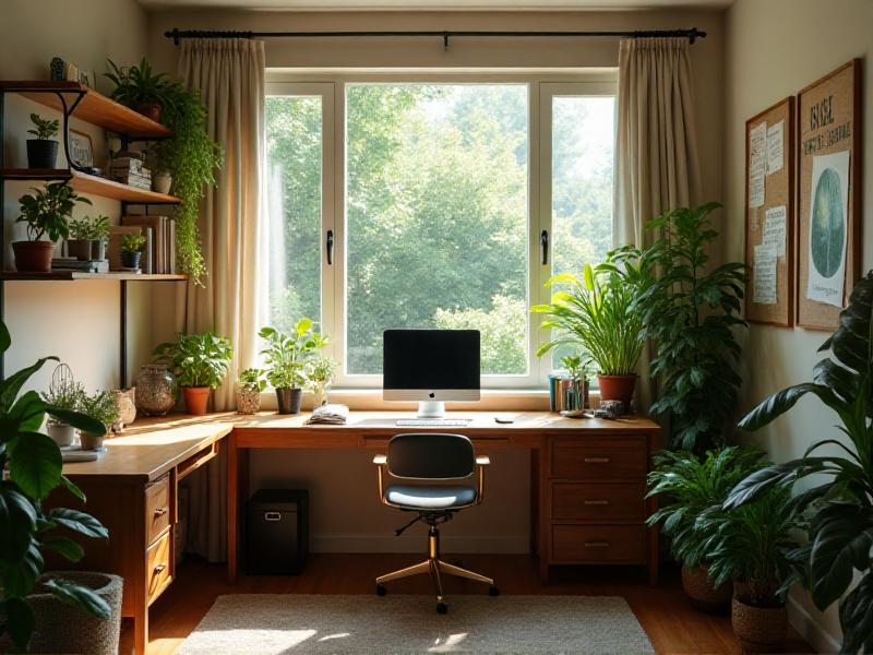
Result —
[[382, 397], [418, 401], [419, 418], [441, 418], [445, 401], [479, 400], [478, 330], [385, 330]]

